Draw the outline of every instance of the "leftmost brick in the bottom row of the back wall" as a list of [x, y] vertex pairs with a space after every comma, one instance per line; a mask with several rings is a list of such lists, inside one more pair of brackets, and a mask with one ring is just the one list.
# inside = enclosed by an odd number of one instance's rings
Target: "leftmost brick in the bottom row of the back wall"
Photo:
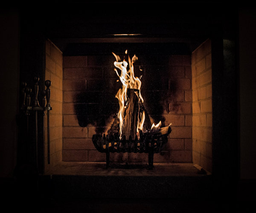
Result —
[[87, 150], [62, 150], [63, 161], [87, 161]]

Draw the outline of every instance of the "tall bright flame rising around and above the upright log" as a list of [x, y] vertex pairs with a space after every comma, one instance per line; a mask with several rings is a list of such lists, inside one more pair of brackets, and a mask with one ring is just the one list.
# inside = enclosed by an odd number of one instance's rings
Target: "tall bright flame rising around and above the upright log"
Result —
[[[127, 89], [138, 89], [139, 92], [136, 92], [136, 95], [139, 99], [139, 102], [142, 101], [143, 103], [143, 98], [140, 93], [140, 87], [141, 87], [141, 81], [140, 78], [134, 76], [134, 62], [138, 60], [138, 57], [134, 55], [132, 58], [128, 55], [128, 62], [125, 60], [121, 60], [119, 55], [116, 55], [115, 53], [112, 52], [114, 57], [116, 58], [116, 61], [114, 62], [114, 66], [121, 70], [121, 74], [119, 75], [117, 69], [115, 68], [116, 75], [119, 77], [121, 83], [122, 83], [122, 88], [118, 90], [116, 93], [116, 98], [119, 101], [119, 112], [117, 114], [119, 118], [119, 127], [120, 127], [120, 138], [122, 138], [122, 127], [124, 123], [124, 116], [125, 116], [125, 109], [128, 104], [128, 97], [127, 97]], [[127, 50], [125, 51], [125, 55], [127, 55]], [[129, 66], [128, 66], [129, 65]], [[128, 70], [127, 70], [128, 67]], [[138, 115], [138, 124], [137, 124], [137, 132], [142, 130], [143, 124], [145, 121], [145, 112], [144, 113], [139, 113]]]

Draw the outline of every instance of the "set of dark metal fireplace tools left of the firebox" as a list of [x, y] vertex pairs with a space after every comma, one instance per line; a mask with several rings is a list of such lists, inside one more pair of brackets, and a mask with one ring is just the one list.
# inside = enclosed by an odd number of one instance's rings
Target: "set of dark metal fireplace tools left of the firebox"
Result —
[[[50, 89], [51, 81], [47, 80], [45, 81], [46, 90], [42, 90], [41, 96], [41, 106], [38, 102], [38, 81], [39, 77], [34, 78], [34, 100], [31, 104], [31, 97], [30, 93], [32, 92], [31, 87], [27, 86], [26, 82], [22, 82], [22, 106], [21, 111], [23, 112], [23, 115], [26, 116], [26, 136], [29, 138], [29, 116], [31, 115], [31, 112], [35, 112], [35, 159], [36, 159], [36, 167], [38, 168], [38, 112], [42, 112], [43, 115], [45, 115], [44, 111], [47, 111], [47, 158], [48, 158], [48, 164], [50, 163], [50, 129], [49, 129], [49, 112], [52, 110], [52, 107], [50, 105]], [[28, 141], [26, 141], [26, 149], [28, 148]]]

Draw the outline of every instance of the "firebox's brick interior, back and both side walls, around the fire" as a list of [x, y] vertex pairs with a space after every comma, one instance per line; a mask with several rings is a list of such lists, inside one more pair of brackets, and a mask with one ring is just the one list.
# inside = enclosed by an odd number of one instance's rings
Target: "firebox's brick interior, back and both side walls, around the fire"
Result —
[[[45, 79], [52, 81], [52, 161], [47, 164], [45, 148], [46, 173], [57, 172], [64, 164], [106, 162], [106, 154], [96, 149], [92, 139], [114, 133], [119, 110], [115, 95], [122, 83], [114, 71], [112, 52], [123, 58], [126, 49], [131, 57], [138, 57], [134, 74], [141, 78], [148, 119], [151, 124], [161, 121], [162, 127], [171, 124], [172, 132], [165, 147], [154, 154], [154, 164], [190, 164], [212, 172], [211, 40], [192, 45], [136, 39], [46, 41]], [[113, 152], [110, 162], [113, 167], [144, 165], [148, 154]]]

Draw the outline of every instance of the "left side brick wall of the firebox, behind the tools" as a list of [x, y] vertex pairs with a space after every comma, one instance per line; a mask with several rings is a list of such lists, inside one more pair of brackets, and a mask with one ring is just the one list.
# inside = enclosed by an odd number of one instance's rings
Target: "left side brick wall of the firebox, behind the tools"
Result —
[[62, 160], [62, 52], [50, 41], [46, 41], [45, 80], [52, 82], [50, 104], [50, 164], [47, 162], [47, 112], [45, 115], [45, 172]]

